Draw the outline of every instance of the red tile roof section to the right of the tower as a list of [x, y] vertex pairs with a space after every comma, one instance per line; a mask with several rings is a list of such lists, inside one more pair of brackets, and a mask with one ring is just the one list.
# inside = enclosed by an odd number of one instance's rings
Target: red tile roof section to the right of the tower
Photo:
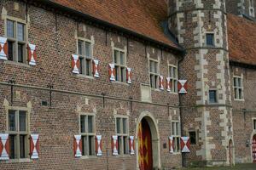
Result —
[[256, 23], [228, 14], [230, 60], [256, 65]]

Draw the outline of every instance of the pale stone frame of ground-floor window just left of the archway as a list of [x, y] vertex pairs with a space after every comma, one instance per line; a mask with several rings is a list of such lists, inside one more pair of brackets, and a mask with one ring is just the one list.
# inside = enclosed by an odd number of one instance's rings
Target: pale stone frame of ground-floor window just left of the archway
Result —
[[[120, 123], [120, 130], [121, 133], [117, 132], [117, 119], [120, 118], [121, 119], [121, 123]], [[123, 132], [123, 119], [126, 119], [126, 131], [127, 133]], [[125, 116], [125, 115], [115, 115], [114, 116], [114, 127], [115, 127], [115, 134], [119, 137], [121, 137], [121, 143], [119, 142], [119, 156], [127, 156], [129, 155], [129, 133], [130, 133], [130, 128], [129, 128], [129, 116]], [[124, 152], [124, 139], [126, 137], [126, 153]]]

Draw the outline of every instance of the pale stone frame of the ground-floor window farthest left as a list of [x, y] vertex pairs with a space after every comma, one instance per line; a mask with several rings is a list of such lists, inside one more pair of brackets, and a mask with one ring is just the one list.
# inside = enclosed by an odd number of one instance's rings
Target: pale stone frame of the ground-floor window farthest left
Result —
[[[15, 127], [17, 129], [15, 131], [9, 130], [9, 111], [15, 111]], [[20, 132], [20, 122], [19, 122], [19, 114], [17, 114], [19, 111], [26, 111], [26, 131]], [[27, 162], [31, 161], [29, 156], [30, 151], [30, 108], [27, 107], [20, 107], [20, 106], [9, 106], [6, 108], [6, 133], [15, 134], [17, 136], [20, 136], [20, 134], [26, 135], [26, 144], [25, 144], [25, 154], [27, 153], [25, 158], [20, 158], [20, 137], [15, 140], [15, 152], [17, 153], [17, 158], [15, 159], [9, 159], [10, 162]]]

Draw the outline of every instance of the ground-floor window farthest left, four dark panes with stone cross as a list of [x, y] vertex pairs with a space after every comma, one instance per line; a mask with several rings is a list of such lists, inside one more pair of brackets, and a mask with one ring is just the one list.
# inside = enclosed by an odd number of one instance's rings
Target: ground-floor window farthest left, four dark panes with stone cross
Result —
[[28, 157], [29, 135], [26, 111], [9, 110], [8, 131], [9, 131], [9, 158], [20, 159]]

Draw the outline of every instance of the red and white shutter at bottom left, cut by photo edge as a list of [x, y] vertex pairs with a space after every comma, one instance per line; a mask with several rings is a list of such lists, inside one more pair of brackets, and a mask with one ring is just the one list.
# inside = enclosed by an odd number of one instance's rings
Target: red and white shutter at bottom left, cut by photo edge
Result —
[[9, 160], [9, 134], [0, 133], [0, 160]]

